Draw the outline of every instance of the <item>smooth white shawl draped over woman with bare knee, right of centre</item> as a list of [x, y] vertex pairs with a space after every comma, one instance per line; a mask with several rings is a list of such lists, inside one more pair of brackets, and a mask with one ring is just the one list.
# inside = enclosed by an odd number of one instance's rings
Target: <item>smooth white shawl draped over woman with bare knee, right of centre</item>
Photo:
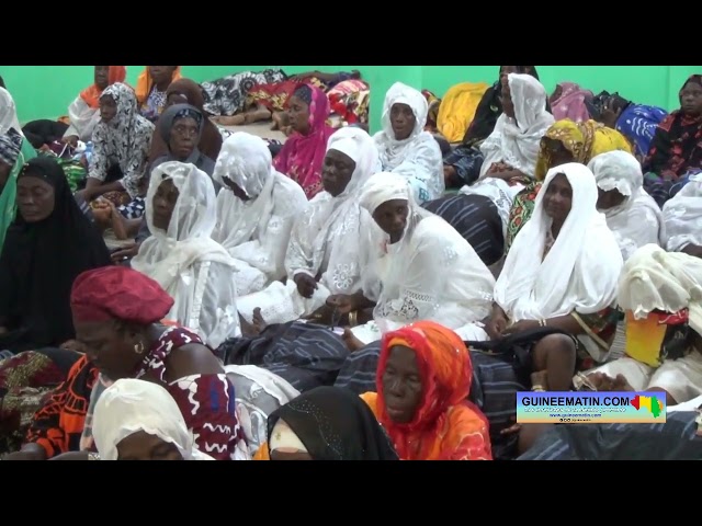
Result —
[[[573, 204], [543, 259], [552, 225], [544, 196], [558, 174], [565, 174], [573, 187]], [[517, 235], [495, 286], [495, 300], [511, 321], [544, 320], [574, 310], [589, 315], [614, 304], [622, 253], [597, 211], [597, 199], [595, 176], [587, 167], [567, 163], [548, 171], [533, 215]]]

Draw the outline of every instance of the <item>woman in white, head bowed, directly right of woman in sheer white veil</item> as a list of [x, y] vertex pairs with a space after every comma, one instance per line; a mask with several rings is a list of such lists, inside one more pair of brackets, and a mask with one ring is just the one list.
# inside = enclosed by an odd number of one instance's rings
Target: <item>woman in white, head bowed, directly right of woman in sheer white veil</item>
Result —
[[213, 179], [223, 191], [212, 239], [237, 260], [238, 295], [283, 279], [293, 221], [307, 206], [303, 188], [273, 168], [263, 139], [242, 132], [222, 145]]

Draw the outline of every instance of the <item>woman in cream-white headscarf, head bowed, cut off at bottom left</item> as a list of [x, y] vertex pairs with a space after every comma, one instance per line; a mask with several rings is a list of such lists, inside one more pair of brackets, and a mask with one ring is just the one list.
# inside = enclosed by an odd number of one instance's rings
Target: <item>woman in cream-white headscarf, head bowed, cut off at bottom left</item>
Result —
[[214, 460], [201, 453], [170, 393], [125, 378], [98, 399], [93, 438], [100, 460]]

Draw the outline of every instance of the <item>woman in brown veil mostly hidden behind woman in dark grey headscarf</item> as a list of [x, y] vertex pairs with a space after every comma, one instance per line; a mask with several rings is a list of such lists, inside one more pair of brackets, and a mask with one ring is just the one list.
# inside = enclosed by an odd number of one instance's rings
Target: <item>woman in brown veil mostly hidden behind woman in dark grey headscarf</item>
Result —
[[[219, 128], [210, 121], [210, 118], [206, 118], [207, 114], [204, 110], [205, 98], [202, 87], [191, 79], [174, 80], [166, 90], [166, 106], [163, 107], [163, 111], [168, 111], [168, 108], [174, 104], [190, 104], [191, 106], [195, 106], [202, 114], [202, 130], [196, 147], [205, 157], [208, 157], [210, 159], [217, 159], [224, 140], [223, 134], [219, 132]], [[156, 132], [154, 132], [154, 137], [151, 138], [149, 163], [152, 163], [158, 158], [170, 153], [168, 146], [169, 141], [163, 138], [162, 128], [163, 125], [159, 119], [159, 122], [156, 123]], [[202, 167], [197, 168], [203, 170]]]

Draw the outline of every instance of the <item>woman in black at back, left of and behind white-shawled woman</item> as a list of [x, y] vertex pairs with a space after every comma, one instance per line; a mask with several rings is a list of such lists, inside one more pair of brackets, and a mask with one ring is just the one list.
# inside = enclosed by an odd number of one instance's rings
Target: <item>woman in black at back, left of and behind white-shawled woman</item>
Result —
[[[502, 114], [502, 84], [509, 73], [531, 75], [539, 80], [536, 68], [533, 66], [500, 66], [499, 79], [483, 95], [475, 116], [465, 130], [463, 141], [443, 156], [443, 173], [448, 188], [460, 188], [477, 181], [483, 165], [480, 144], [492, 133], [497, 119]], [[546, 111], [548, 110], [546, 101]]]

